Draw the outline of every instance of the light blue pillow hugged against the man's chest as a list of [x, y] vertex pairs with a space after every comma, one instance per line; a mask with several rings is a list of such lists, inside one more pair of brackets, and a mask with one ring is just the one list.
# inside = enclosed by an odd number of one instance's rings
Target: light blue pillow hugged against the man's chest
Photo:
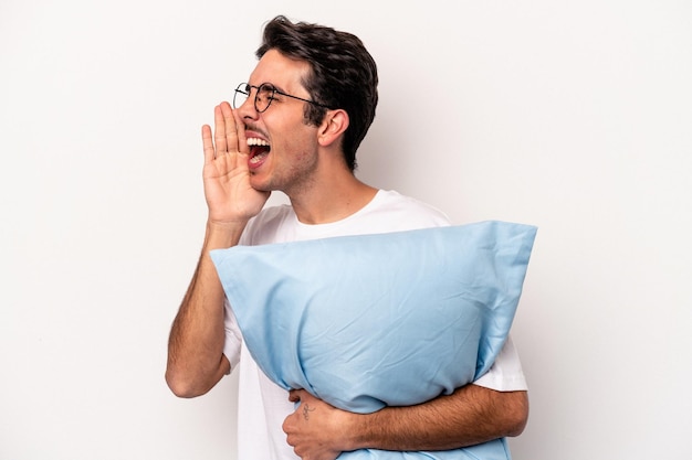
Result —
[[535, 234], [492, 221], [235, 246], [211, 258], [269, 378], [371, 413], [450, 394], [490, 368]]

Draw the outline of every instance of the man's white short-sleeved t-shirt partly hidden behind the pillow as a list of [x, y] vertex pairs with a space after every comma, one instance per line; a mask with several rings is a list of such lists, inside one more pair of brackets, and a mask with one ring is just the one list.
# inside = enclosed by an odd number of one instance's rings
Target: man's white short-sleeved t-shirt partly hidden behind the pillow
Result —
[[[355, 214], [329, 224], [301, 223], [289, 205], [269, 207], [250, 221], [242, 245], [263, 245], [346, 235], [389, 233], [450, 225], [440, 211], [400, 195], [378, 191]], [[258, 275], [258, 282], [262, 276]], [[286, 443], [281, 426], [294, 410], [289, 393], [271, 382], [258, 367], [243, 344], [233, 312], [227, 302], [223, 353], [235, 368], [240, 364], [238, 402], [238, 458], [298, 460]], [[526, 389], [526, 381], [512, 340], [507, 340], [491, 370], [474, 382], [496, 391]]]

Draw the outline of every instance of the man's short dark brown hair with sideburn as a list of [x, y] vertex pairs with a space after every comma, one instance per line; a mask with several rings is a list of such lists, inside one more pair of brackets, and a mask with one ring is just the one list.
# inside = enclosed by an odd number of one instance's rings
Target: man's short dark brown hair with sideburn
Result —
[[[349, 126], [342, 150], [348, 168], [356, 169], [356, 150], [365, 138], [377, 107], [377, 65], [360, 39], [347, 32], [306, 22], [293, 23], [277, 15], [266, 23], [258, 58], [270, 50], [306, 61], [312, 72], [302, 82], [311, 98], [332, 108], [346, 110]], [[326, 109], [305, 105], [305, 118], [322, 122]]]

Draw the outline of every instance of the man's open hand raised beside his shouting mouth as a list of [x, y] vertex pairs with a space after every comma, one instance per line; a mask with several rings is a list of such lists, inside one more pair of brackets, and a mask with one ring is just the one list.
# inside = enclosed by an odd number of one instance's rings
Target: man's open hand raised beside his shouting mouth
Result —
[[214, 108], [214, 138], [202, 127], [205, 196], [211, 223], [247, 222], [266, 203], [271, 192], [250, 185], [245, 126], [229, 103]]

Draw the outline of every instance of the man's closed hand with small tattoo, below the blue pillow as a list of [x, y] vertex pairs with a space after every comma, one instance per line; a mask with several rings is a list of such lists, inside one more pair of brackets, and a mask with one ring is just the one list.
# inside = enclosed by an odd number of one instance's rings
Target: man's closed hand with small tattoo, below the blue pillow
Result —
[[286, 417], [283, 430], [286, 441], [303, 460], [334, 460], [342, 451], [352, 450], [345, 435], [355, 414], [318, 399], [304, 389], [293, 389], [289, 399], [301, 405]]

